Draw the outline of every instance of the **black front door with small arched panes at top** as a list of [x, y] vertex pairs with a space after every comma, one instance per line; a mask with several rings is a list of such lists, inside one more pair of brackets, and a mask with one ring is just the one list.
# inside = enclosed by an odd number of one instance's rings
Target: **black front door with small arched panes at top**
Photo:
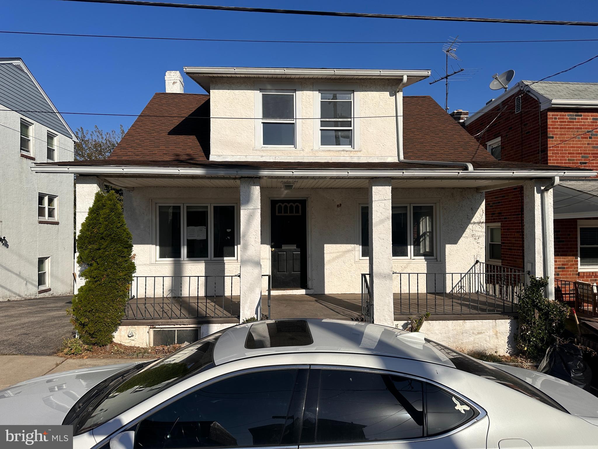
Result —
[[273, 289], [307, 288], [306, 205], [305, 199], [271, 200]]

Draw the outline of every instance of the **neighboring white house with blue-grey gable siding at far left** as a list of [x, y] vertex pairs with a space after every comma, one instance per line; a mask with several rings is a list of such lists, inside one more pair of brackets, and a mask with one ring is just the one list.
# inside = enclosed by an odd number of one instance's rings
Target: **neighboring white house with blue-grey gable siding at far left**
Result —
[[30, 166], [72, 160], [75, 139], [23, 60], [0, 58], [0, 301], [73, 292], [73, 176]]

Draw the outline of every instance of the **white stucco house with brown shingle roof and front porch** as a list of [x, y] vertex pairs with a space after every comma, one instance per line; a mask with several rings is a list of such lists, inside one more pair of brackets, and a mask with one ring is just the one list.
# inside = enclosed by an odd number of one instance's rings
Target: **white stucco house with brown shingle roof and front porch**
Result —
[[77, 228], [102, 184], [124, 189], [137, 271], [118, 341], [429, 311], [444, 342], [509, 350], [525, 274], [478, 262], [484, 192], [523, 184], [527, 266], [551, 275], [551, 183], [595, 172], [496, 160], [432, 98], [403, 95], [425, 70], [184, 71], [208, 95], [167, 72], [107, 160], [33, 166], [78, 175]]

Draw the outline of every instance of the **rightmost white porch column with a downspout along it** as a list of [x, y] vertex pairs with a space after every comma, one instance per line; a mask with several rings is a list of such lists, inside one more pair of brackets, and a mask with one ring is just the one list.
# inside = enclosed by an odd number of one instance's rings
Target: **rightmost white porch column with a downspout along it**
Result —
[[553, 191], [542, 192], [546, 185], [546, 180], [523, 184], [524, 269], [536, 277], [548, 276], [547, 296], [554, 299]]

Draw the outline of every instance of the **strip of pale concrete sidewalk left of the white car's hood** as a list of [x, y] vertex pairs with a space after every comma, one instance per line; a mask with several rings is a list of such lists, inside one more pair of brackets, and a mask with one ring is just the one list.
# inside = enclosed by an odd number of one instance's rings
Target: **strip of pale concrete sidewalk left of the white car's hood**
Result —
[[71, 369], [117, 365], [141, 359], [67, 359], [57, 356], [0, 356], [0, 390], [24, 380]]

